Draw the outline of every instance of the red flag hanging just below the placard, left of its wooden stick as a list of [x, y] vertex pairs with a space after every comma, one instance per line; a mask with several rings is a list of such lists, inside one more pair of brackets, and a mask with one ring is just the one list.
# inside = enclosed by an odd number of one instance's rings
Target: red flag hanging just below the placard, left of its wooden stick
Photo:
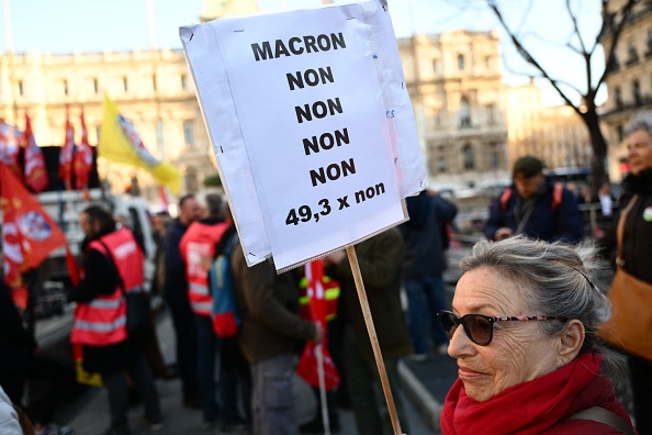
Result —
[[[326, 291], [324, 289], [324, 260], [316, 259], [307, 263], [304, 266], [304, 270], [307, 278], [311, 320], [319, 323], [324, 331], [326, 331], [326, 314], [328, 306]], [[324, 383], [326, 390], [329, 391], [339, 384], [340, 379], [326, 345], [327, 336], [324, 334], [324, 341], [321, 344], [324, 358]], [[306, 343], [301, 359], [299, 360], [296, 372], [311, 386], [319, 387], [316, 346], [313, 342]]]

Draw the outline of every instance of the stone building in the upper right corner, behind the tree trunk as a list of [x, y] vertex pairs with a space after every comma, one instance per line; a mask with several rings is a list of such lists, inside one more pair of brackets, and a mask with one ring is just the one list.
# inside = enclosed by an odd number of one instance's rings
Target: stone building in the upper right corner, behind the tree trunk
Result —
[[[626, 0], [610, 0], [608, 11], [617, 14]], [[612, 45], [611, 34], [605, 32], [600, 42], [605, 52]], [[608, 143], [608, 170], [612, 181], [622, 177], [620, 163], [627, 155], [623, 129], [632, 114], [652, 109], [652, 2], [634, 5], [630, 20], [618, 40], [615, 59], [607, 65], [609, 97], [600, 111], [603, 133]]]

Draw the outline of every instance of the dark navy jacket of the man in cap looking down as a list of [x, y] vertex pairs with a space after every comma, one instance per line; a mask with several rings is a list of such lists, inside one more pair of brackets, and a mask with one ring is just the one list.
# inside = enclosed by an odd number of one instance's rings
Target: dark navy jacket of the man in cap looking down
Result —
[[[506, 204], [502, 204], [501, 196], [491, 205], [490, 216], [484, 227], [486, 238], [495, 239], [496, 230], [508, 227], [515, 234], [525, 234], [529, 237], [547, 242], [563, 241], [577, 243], [584, 236], [582, 214], [577, 209], [577, 199], [566, 188], [563, 189], [561, 204], [553, 210], [552, 191], [554, 182], [547, 178], [542, 190], [532, 199], [533, 210], [529, 217], [519, 217], [525, 201], [512, 186], [512, 194]], [[517, 232], [519, 223], [524, 222], [522, 231]]]

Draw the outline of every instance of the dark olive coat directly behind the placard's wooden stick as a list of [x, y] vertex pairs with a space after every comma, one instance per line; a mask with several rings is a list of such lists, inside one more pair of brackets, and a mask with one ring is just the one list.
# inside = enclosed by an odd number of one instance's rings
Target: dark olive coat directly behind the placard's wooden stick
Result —
[[[383, 358], [411, 354], [412, 346], [401, 305], [405, 258], [401, 232], [391, 228], [356, 245], [356, 256]], [[340, 305], [344, 304], [345, 321], [351, 327], [356, 345], [369, 361], [373, 361], [371, 341], [348, 258], [328, 268], [327, 274], [340, 282]]]

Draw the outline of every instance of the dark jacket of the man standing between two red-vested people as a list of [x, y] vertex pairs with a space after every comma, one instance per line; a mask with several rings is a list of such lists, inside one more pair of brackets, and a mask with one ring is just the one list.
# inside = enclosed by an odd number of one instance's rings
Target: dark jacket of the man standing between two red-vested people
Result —
[[175, 303], [178, 299], [188, 300], [188, 281], [186, 280], [186, 266], [181, 259], [179, 242], [188, 230], [179, 219], [172, 220], [166, 227], [166, 237], [164, 241], [166, 258], [166, 280], [164, 285], [164, 294]]

